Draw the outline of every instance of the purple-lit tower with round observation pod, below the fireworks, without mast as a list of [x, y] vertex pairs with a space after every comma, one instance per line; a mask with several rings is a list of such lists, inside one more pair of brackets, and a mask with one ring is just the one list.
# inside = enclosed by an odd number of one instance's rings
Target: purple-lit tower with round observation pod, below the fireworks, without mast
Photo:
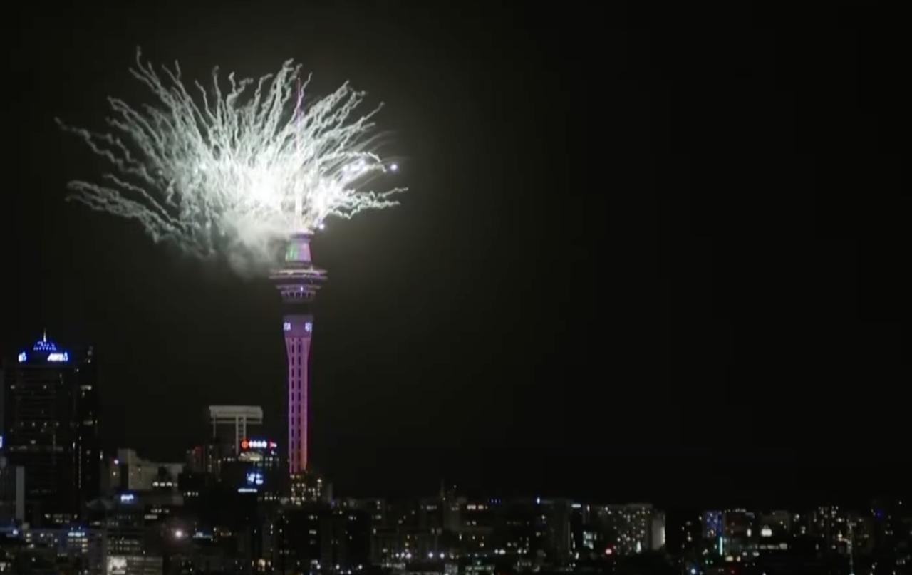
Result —
[[270, 276], [282, 295], [285, 353], [288, 359], [288, 470], [307, 469], [307, 393], [310, 339], [314, 331], [311, 310], [326, 271], [310, 259], [310, 235], [293, 235], [285, 250], [285, 266]]

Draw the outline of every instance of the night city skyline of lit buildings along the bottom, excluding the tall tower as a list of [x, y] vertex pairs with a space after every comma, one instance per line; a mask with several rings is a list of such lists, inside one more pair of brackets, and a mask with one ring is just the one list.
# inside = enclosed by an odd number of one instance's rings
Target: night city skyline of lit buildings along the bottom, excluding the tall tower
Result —
[[[94, 351], [0, 371], [0, 573], [912, 574], [912, 512], [658, 509], [570, 497], [335, 497], [257, 406], [212, 405], [183, 461], [98, 444]], [[296, 454], [296, 455], [295, 455]]]

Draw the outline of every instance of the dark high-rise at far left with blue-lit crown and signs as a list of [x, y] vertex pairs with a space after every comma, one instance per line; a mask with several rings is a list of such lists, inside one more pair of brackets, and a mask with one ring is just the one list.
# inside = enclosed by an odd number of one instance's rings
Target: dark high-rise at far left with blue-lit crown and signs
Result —
[[98, 390], [93, 351], [47, 335], [5, 367], [4, 451], [25, 469], [26, 520], [65, 523], [98, 496]]

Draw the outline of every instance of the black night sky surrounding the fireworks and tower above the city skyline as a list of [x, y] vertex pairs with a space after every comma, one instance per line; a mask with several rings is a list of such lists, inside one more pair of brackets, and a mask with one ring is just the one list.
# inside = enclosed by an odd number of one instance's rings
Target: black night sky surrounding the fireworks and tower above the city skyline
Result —
[[338, 492], [912, 483], [897, 15], [134, 4], [21, 5], [4, 38], [0, 350], [93, 343], [109, 447], [179, 459], [210, 403], [282, 435], [274, 288], [64, 201], [101, 166], [54, 117], [141, 99], [140, 45], [187, 78], [294, 57], [387, 103], [410, 192], [314, 246], [312, 454]]

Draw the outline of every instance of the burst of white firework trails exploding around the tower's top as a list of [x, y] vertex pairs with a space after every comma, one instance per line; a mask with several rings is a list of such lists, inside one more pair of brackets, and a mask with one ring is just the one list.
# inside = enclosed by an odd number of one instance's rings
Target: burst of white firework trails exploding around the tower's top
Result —
[[227, 92], [218, 68], [209, 89], [194, 81], [188, 90], [176, 62], [161, 68], [163, 77], [139, 50], [136, 62], [130, 72], [153, 105], [109, 98], [107, 132], [57, 122], [112, 167], [100, 183], [68, 183], [72, 199], [133, 218], [156, 241], [262, 262], [276, 240], [313, 233], [329, 216], [395, 205], [390, 196], [404, 190], [364, 189], [396, 164], [374, 151], [379, 107], [358, 115], [365, 92], [347, 83], [306, 103], [309, 78], [297, 86], [301, 66], [292, 60], [255, 82], [229, 74]]

